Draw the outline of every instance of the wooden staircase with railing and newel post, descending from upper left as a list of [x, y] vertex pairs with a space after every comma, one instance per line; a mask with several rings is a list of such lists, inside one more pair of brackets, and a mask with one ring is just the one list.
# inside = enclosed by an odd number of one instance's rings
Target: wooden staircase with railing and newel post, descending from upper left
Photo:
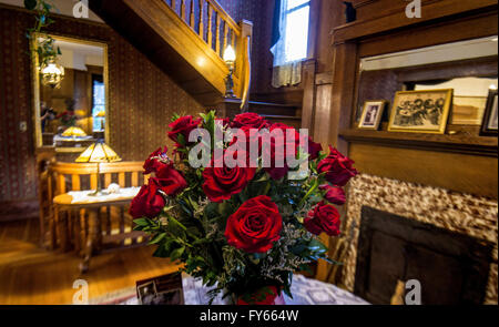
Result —
[[234, 93], [248, 101], [253, 24], [215, 0], [90, 0], [89, 7], [204, 106], [225, 93], [223, 52], [236, 52]]

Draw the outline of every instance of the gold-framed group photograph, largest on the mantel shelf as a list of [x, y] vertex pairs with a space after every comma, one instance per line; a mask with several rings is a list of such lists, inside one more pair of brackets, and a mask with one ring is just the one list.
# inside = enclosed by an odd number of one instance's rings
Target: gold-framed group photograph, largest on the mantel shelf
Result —
[[452, 89], [397, 92], [388, 131], [444, 134], [452, 94]]

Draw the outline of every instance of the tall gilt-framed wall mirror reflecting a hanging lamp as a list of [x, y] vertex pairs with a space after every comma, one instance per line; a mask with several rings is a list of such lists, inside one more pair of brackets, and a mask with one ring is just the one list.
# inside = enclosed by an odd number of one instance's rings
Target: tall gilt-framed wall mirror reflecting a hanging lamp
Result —
[[[50, 37], [60, 49], [57, 60], [40, 65], [38, 55], [32, 55], [37, 147], [81, 152], [99, 139], [109, 142], [108, 45]], [[38, 35], [33, 42], [44, 38]]]

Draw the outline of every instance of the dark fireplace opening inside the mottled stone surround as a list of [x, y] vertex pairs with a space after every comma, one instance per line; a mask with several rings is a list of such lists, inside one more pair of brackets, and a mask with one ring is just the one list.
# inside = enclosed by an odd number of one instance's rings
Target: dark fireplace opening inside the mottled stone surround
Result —
[[417, 279], [422, 305], [482, 304], [492, 248], [486, 241], [364, 206], [355, 294], [388, 305], [400, 282]]

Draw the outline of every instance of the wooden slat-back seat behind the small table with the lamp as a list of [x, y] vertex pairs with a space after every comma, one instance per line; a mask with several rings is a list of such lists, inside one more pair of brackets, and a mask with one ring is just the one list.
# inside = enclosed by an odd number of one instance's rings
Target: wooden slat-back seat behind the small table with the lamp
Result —
[[[49, 248], [60, 248], [69, 251], [72, 246], [78, 253], [81, 252], [81, 235], [88, 235], [86, 212], [64, 212], [58, 215], [59, 222], [54, 219], [53, 198], [58, 195], [70, 191], [95, 190], [98, 178], [101, 180], [103, 188], [111, 183], [116, 183], [120, 187], [141, 186], [147, 183], [149, 176], [142, 174], [143, 162], [120, 162], [101, 164], [98, 176], [96, 164], [77, 164], [53, 162], [49, 165], [49, 177], [47, 181], [47, 198], [43, 200], [50, 204], [49, 214], [41, 217], [41, 225], [48, 225]], [[102, 206], [96, 210], [99, 215], [99, 233], [111, 236], [113, 232], [112, 225], [118, 224], [119, 234], [125, 234], [128, 228], [132, 228], [132, 219], [124, 206]], [[102, 233], [102, 231], [104, 233]], [[118, 242], [119, 238], [114, 237]], [[125, 246], [128, 242], [136, 245], [141, 239], [129, 238], [130, 241], [121, 241], [121, 245]]]

